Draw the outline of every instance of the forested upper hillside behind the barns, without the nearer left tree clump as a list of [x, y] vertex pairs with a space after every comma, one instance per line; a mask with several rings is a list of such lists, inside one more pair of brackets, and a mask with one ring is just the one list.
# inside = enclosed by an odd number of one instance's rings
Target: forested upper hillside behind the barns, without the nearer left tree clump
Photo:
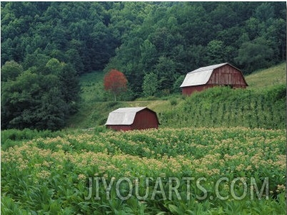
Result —
[[[144, 76], [161, 95], [181, 75], [228, 62], [252, 73], [286, 59], [283, 2], [1, 2], [1, 65], [24, 70], [56, 58], [77, 74], [111, 68], [129, 80], [131, 98]], [[5, 76], [5, 75], [4, 75]], [[5, 77], [4, 77], [5, 78]]]

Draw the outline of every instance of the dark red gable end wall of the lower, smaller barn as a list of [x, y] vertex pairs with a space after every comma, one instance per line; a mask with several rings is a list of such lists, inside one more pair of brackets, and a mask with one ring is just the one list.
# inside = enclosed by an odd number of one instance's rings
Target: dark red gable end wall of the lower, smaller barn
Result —
[[136, 113], [134, 118], [134, 123], [131, 125], [131, 129], [148, 129], [148, 128], [158, 128], [158, 120], [156, 113], [150, 110], [144, 109]]

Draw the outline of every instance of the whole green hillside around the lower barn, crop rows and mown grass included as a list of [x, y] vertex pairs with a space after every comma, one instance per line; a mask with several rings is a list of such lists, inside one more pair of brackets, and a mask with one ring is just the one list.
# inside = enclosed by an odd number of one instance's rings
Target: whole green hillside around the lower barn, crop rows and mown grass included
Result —
[[[244, 126], [285, 128], [286, 63], [246, 76], [246, 90], [211, 88], [186, 98], [114, 102], [104, 91], [104, 73], [81, 76], [81, 106], [69, 127], [104, 125], [116, 108], [147, 106], [158, 113], [161, 127]], [[143, 101], [144, 100], [144, 101]]]

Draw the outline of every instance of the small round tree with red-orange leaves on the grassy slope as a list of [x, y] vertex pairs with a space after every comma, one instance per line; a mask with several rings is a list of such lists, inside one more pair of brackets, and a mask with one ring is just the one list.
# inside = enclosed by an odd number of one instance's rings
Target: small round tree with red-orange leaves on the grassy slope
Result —
[[115, 101], [117, 95], [126, 91], [127, 83], [126, 76], [119, 70], [112, 69], [104, 77], [105, 90], [114, 94]]

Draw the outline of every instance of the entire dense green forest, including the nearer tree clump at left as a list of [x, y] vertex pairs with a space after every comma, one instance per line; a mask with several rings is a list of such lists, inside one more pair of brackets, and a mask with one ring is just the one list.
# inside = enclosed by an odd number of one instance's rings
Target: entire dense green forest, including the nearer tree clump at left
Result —
[[63, 127], [83, 73], [120, 70], [134, 99], [204, 65], [285, 60], [285, 2], [1, 2], [1, 126]]

